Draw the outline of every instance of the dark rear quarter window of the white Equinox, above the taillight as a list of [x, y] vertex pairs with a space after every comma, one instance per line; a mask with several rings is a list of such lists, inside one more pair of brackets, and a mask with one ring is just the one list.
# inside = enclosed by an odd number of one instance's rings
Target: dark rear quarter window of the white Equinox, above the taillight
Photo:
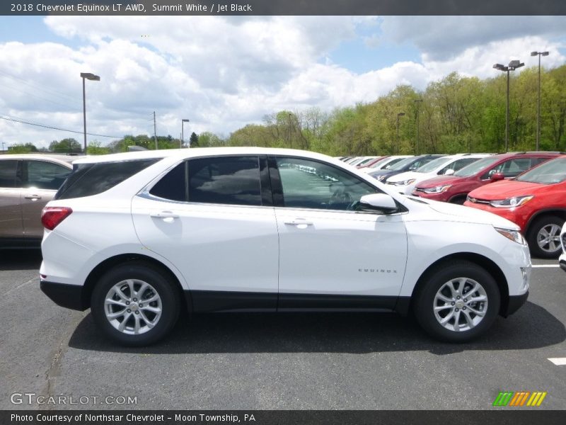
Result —
[[141, 159], [75, 165], [54, 199], [81, 198], [103, 193], [158, 161], [159, 159]]

